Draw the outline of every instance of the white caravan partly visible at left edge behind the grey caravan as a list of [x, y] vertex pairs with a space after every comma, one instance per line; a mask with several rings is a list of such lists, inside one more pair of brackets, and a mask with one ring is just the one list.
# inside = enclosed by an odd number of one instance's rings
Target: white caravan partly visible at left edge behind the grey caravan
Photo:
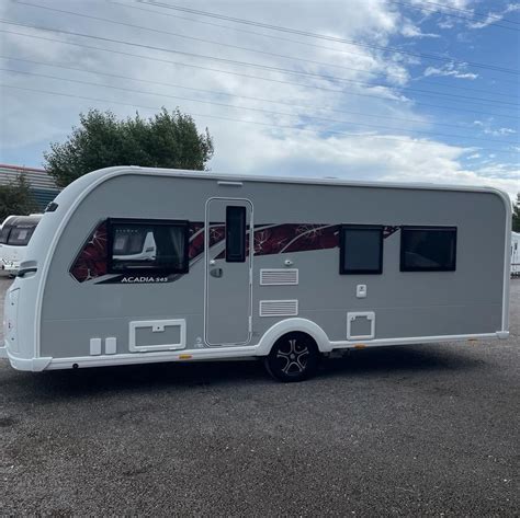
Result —
[[34, 233], [41, 214], [9, 216], [0, 228], [0, 270], [14, 276]]

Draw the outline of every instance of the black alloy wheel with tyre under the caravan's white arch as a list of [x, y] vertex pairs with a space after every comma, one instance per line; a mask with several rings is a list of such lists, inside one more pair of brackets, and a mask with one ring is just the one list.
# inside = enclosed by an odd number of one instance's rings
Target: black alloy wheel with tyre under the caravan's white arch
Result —
[[264, 365], [276, 380], [303, 381], [316, 373], [320, 358], [316, 342], [310, 336], [287, 333], [274, 343]]

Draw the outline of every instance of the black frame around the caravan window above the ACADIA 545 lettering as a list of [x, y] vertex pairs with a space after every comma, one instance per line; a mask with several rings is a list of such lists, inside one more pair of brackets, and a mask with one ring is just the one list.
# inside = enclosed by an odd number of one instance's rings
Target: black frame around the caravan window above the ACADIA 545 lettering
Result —
[[[114, 245], [114, 226], [165, 226], [165, 227], [180, 227], [184, 230], [184, 256], [182, 257], [182, 267], [126, 267], [122, 269], [114, 269], [113, 261], [113, 245]], [[106, 273], [111, 275], [170, 275], [170, 274], [188, 274], [190, 272], [190, 222], [184, 219], [142, 219], [142, 218], [108, 218], [106, 219]]]

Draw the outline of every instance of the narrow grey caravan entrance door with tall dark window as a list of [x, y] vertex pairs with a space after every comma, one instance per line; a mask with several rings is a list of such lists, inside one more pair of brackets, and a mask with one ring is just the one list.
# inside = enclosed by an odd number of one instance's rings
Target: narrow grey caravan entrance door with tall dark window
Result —
[[211, 198], [205, 210], [205, 311], [207, 345], [246, 345], [251, 339], [252, 204]]

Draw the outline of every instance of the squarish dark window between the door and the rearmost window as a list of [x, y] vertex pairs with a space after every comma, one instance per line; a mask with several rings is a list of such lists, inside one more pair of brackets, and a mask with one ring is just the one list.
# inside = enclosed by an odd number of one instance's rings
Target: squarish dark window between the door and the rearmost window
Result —
[[383, 272], [383, 227], [344, 225], [340, 230], [341, 275]]

